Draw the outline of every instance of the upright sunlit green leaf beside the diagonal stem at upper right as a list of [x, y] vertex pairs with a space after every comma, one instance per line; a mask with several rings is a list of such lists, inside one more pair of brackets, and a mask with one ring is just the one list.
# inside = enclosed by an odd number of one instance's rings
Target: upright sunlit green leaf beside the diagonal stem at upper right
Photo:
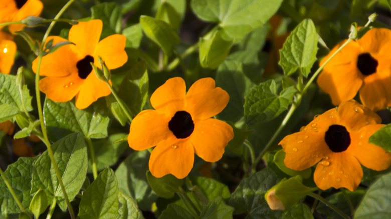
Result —
[[297, 69], [305, 77], [308, 76], [316, 61], [318, 36], [311, 19], [301, 21], [286, 39], [280, 50], [280, 61], [285, 75], [294, 73]]

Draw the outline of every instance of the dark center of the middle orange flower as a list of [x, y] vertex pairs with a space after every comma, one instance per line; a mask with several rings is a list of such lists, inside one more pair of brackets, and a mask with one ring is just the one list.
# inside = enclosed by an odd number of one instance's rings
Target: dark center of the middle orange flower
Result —
[[186, 111], [175, 112], [174, 117], [168, 122], [168, 128], [174, 133], [176, 138], [186, 138], [194, 130], [194, 122], [190, 113]]

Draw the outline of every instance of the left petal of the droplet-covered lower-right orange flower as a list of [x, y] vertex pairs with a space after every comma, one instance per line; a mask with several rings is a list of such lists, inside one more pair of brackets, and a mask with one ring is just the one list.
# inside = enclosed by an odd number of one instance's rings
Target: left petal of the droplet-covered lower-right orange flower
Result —
[[285, 166], [294, 170], [309, 168], [331, 152], [324, 140], [324, 132], [312, 130], [287, 135], [278, 144], [286, 154]]

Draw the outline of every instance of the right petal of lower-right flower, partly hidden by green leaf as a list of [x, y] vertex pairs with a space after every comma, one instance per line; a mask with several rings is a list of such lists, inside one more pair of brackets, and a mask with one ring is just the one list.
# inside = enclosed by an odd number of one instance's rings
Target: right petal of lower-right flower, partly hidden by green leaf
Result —
[[350, 133], [351, 144], [346, 149], [346, 152], [355, 156], [362, 165], [376, 171], [384, 170], [391, 165], [391, 153], [368, 143], [369, 137], [382, 126], [384, 124], [370, 124]]

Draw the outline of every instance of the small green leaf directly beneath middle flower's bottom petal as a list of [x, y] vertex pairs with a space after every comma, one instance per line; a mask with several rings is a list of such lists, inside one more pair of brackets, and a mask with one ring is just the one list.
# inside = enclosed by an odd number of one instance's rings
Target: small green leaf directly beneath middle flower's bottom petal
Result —
[[179, 192], [179, 187], [183, 184], [183, 179], [168, 174], [161, 178], [156, 178], [150, 171], [147, 171], [147, 180], [151, 188], [157, 195], [164, 198], [171, 198], [175, 192]]

